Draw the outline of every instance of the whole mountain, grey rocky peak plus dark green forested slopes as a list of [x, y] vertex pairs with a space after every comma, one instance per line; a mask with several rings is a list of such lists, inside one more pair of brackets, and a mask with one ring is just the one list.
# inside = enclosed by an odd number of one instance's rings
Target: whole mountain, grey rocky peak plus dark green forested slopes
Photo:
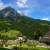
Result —
[[11, 7], [1, 10], [0, 17], [0, 31], [19, 30], [30, 39], [44, 36], [48, 32], [48, 25], [50, 25], [48, 21], [21, 16]]

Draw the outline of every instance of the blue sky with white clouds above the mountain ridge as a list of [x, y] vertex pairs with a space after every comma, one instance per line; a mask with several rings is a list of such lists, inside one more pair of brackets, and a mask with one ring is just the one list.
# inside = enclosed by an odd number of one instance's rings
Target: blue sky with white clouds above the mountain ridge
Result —
[[0, 10], [8, 6], [31, 18], [50, 21], [50, 0], [0, 0]]

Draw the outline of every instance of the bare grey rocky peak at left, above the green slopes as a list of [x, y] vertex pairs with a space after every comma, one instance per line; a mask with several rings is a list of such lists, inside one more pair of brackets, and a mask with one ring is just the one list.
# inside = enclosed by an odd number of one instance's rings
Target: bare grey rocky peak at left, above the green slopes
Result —
[[20, 16], [20, 14], [17, 13], [13, 8], [6, 7], [5, 9], [0, 11], [0, 16], [3, 16], [4, 18], [9, 18], [9, 19], [16, 19], [17, 17]]

